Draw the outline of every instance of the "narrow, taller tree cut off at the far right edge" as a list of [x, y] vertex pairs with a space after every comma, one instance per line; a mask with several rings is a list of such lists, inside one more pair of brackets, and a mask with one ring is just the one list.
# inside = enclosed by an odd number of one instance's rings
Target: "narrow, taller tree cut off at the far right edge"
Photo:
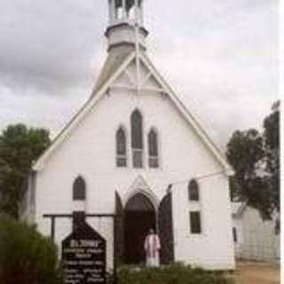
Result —
[[272, 106], [272, 114], [264, 120], [266, 170], [272, 194], [272, 206], [280, 211], [280, 102]]

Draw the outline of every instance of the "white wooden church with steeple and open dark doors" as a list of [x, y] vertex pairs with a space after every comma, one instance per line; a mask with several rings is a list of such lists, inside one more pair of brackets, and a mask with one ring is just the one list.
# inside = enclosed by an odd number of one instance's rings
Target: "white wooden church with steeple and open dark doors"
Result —
[[[134, 0], [108, 3], [104, 67], [90, 99], [35, 162], [21, 216], [60, 248], [73, 212], [117, 214], [115, 225], [86, 217], [106, 239], [109, 268], [114, 250], [120, 264], [143, 264], [154, 228], [162, 264], [234, 269], [232, 170], [149, 59], [143, 0], [138, 9]], [[61, 216], [53, 226], [49, 214]]]

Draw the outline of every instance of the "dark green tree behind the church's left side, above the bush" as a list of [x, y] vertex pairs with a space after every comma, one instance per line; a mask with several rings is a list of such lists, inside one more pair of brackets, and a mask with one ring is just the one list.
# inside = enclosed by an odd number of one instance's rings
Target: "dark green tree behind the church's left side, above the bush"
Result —
[[50, 143], [48, 130], [24, 124], [10, 125], [0, 135], [0, 210], [18, 217], [20, 189], [32, 163]]

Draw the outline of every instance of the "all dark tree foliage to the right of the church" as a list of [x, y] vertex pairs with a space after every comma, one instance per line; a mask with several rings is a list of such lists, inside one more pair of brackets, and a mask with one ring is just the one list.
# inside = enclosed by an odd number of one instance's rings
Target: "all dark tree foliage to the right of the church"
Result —
[[227, 160], [233, 201], [247, 201], [264, 219], [280, 210], [280, 111], [273, 107], [264, 120], [264, 133], [237, 130], [230, 139]]

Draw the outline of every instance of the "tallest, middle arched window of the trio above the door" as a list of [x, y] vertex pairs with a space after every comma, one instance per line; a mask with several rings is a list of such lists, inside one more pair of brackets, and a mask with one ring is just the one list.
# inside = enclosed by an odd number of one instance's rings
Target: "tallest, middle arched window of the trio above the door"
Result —
[[131, 146], [134, 168], [143, 168], [142, 115], [138, 110], [131, 114]]

